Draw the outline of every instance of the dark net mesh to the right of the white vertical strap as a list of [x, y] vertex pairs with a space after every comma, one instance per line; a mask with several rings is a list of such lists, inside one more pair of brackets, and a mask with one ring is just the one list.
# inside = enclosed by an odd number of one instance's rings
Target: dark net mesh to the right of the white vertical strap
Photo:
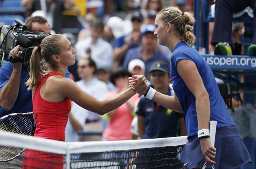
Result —
[[72, 154], [71, 168], [183, 169], [183, 164], [178, 160], [183, 146]]

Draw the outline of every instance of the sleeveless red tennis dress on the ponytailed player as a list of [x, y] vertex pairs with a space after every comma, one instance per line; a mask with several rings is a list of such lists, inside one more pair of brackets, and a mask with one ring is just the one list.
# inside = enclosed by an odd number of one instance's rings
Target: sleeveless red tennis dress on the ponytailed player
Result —
[[[68, 122], [68, 113], [71, 110], [71, 99], [50, 102], [40, 95], [41, 86], [48, 77], [53, 75], [61, 74], [54, 72], [42, 77], [35, 90], [32, 100], [35, 123], [37, 124], [34, 136], [65, 141], [65, 128]], [[61, 154], [26, 149], [22, 168], [63, 169], [63, 161], [64, 157]]]

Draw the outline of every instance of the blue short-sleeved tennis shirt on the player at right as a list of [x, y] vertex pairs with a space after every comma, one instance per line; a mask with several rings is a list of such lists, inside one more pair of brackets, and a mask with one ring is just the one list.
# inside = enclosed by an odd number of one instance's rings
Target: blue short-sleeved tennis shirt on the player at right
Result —
[[185, 113], [185, 124], [188, 131], [188, 137], [197, 135], [198, 121], [196, 114], [196, 98], [186, 86], [177, 70], [177, 61], [181, 59], [191, 60], [195, 63], [198, 72], [203, 80], [210, 100], [210, 120], [218, 121], [217, 129], [225, 126], [235, 125], [231, 118], [226, 104], [219, 92], [218, 85], [214, 78], [210, 66], [204, 58], [191, 46], [181, 41], [174, 47], [171, 55], [170, 75], [173, 84], [173, 90], [180, 101], [181, 107]]

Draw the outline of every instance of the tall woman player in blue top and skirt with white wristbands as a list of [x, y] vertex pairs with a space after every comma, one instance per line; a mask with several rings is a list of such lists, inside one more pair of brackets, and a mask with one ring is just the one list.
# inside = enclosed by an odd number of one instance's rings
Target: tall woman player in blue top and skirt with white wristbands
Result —
[[[219, 92], [211, 68], [191, 46], [196, 38], [192, 33], [194, 17], [169, 7], [158, 12], [155, 20], [160, 45], [172, 52], [170, 75], [175, 96], [167, 96], [148, 87], [143, 90], [146, 98], [153, 99], [166, 108], [184, 113], [188, 143], [179, 159], [185, 168], [206, 168], [214, 164], [219, 169], [237, 169], [251, 162], [251, 157], [240, 138]], [[138, 80], [133, 76], [130, 86]], [[218, 121], [214, 147], [209, 139], [209, 121]]]

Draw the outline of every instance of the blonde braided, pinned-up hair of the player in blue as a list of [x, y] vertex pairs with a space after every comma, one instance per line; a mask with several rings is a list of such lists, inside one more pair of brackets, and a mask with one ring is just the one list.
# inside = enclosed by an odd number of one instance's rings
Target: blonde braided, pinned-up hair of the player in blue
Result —
[[196, 43], [196, 37], [192, 33], [195, 18], [188, 12], [181, 12], [177, 7], [168, 7], [157, 13], [165, 24], [171, 23], [175, 30], [188, 45]]

